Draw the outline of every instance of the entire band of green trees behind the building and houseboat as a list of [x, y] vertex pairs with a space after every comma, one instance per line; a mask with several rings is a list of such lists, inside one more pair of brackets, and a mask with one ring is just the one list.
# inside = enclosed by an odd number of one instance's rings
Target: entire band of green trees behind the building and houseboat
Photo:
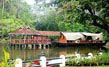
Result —
[[[36, 30], [109, 34], [107, 0], [56, 0], [31, 7], [22, 0], [0, 0], [0, 39], [21, 26]], [[53, 8], [58, 5], [57, 8]]]

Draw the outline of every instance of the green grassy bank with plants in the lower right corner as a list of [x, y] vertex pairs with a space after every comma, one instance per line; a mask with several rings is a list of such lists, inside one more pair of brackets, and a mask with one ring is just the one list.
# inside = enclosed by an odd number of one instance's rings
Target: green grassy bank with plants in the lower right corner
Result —
[[67, 66], [102, 66], [109, 65], [109, 50], [107, 52], [103, 52], [102, 55], [94, 55], [90, 59], [82, 57], [78, 58], [70, 58], [66, 65]]

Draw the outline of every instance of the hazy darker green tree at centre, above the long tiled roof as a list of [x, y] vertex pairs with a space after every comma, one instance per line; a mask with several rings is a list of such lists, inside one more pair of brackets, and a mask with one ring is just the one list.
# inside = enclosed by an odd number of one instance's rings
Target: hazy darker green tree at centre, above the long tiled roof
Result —
[[51, 31], [58, 31], [58, 23], [55, 21], [56, 12], [50, 11], [48, 14], [45, 15], [38, 15], [38, 20], [35, 23], [35, 28], [37, 30], [51, 30]]

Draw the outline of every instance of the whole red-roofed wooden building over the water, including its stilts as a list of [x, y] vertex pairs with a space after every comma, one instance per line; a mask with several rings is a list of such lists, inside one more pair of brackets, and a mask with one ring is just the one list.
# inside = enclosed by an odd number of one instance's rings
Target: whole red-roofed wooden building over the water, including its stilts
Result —
[[58, 32], [31, 30], [29, 26], [20, 27], [10, 33], [10, 46], [16, 48], [49, 48], [52, 43], [48, 36], [58, 36]]

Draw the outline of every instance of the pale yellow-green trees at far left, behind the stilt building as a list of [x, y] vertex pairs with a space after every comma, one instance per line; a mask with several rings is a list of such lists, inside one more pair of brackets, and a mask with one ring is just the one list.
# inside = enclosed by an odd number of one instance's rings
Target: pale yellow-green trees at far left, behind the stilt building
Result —
[[30, 6], [21, 0], [0, 1], [0, 35], [7, 37], [8, 33], [20, 26], [32, 26]]

